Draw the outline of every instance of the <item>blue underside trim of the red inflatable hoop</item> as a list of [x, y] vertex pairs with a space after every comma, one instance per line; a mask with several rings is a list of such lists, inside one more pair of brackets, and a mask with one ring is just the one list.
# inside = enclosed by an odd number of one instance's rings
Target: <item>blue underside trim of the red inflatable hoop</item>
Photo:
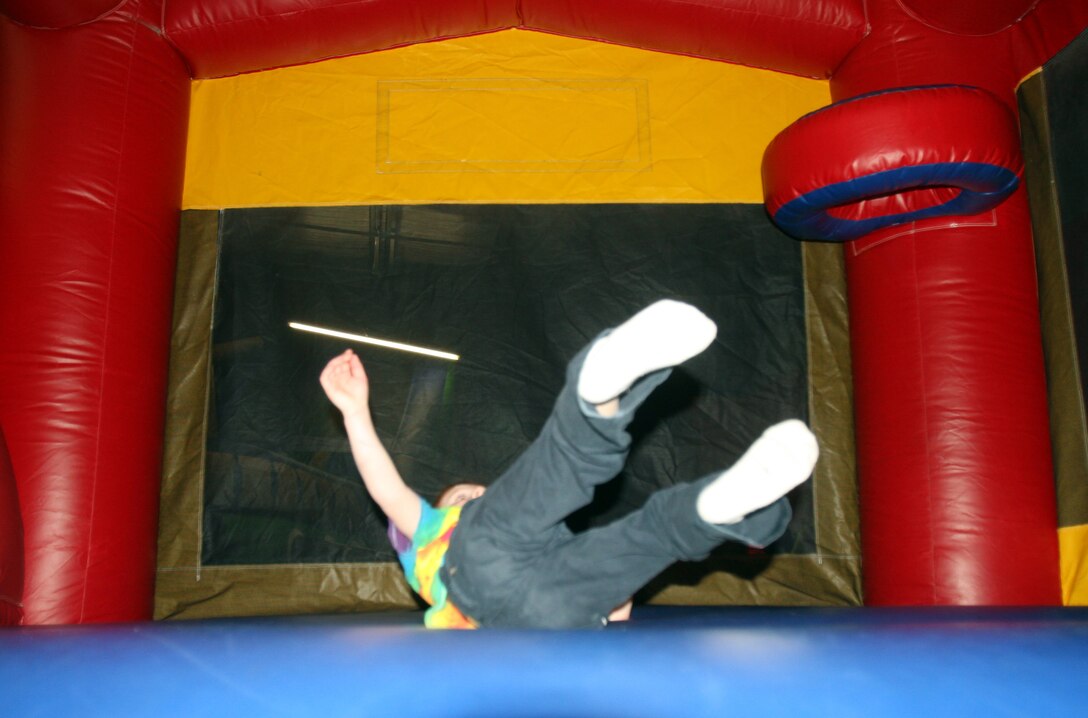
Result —
[[[937, 162], [875, 172], [805, 193], [775, 212], [775, 223], [802, 239], [848, 242], [870, 232], [949, 214], [969, 215], [993, 209], [1019, 185], [1009, 168], [984, 162]], [[960, 187], [959, 195], [935, 207], [866, 220], [831, 216], [827, 210], [869, 197], [926, 187]]]

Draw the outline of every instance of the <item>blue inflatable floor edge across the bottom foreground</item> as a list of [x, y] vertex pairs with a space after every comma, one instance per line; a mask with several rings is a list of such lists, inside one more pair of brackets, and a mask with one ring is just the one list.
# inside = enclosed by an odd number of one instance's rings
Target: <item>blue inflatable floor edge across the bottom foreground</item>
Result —
[[601, 631], [419, 615], [0, 629], [3, 715], [1086, 716], [1088, 609], [641, 608]]

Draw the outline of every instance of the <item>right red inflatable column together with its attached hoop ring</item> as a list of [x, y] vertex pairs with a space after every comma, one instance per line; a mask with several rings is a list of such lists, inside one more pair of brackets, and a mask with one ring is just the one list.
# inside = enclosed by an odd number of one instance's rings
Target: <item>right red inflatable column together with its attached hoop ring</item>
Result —
[[849, 240], [867, 604], [1060, 601], [1022, 175], [1014, 115], [970, 87], [839, 102], [767, 149], [775, 221]]

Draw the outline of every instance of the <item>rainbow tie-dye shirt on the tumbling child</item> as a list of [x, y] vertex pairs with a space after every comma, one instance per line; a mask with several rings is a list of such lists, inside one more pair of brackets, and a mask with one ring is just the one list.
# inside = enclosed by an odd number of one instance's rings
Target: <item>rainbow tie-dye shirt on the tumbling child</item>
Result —
[[431, 604], [423, 616], [423, 623], [428, 628], [475, 628], [475, 623], [449, 602], [446, 596], [446, 584], [438, 575], [438, 569], [446, 560], [449, 537], [461, 518], [461, 507], [434, 508], [420, 499], [420, 508], [419, 525], [410, 543], [403, 534], [400, 535], [400, 538], [404, 538], [403, 543], [394, 537], [393, 531], [390, 534], [397, 558], [400, 559], [400, 566], [404, 567], [405, 575], [408, 578], [408, 585], [422, 596], [423, 601]]

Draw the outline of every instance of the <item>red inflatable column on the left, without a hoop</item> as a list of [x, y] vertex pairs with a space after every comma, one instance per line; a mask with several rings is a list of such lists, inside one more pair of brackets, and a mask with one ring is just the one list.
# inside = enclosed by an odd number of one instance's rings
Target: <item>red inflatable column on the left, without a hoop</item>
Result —
[[64, 29], [0, 17], [0, 423], [26, 623], [152, 606], [189, 81], [161, 0], [114, 4]]

